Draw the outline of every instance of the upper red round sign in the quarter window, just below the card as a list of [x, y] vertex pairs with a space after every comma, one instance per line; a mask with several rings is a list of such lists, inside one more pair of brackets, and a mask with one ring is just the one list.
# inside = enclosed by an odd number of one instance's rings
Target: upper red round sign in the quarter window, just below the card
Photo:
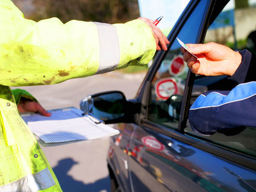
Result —
[[185, 63], [182, 56], [176, 56], [173, 58], [169, 67], [169, 72], [172, 76], [180, 76], [185, 70]]

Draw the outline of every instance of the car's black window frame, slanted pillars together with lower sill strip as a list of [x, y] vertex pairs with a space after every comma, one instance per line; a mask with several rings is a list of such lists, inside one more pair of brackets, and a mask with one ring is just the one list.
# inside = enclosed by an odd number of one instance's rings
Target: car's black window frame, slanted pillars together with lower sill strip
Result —
[[[191, 12], [193, 12], [193, 10], [195, 9], [196, 5], [199, 2], [200, 2], [200, 0], [190, 1], [187, 8], [184, 10], [182, 15], [180, 15], [180, 18], [178, 19], [177, 23], [173, 27], [172, 32], [168, 36], [168, 40], [170, 41], [170, 44], [168, 45], [168, 49], [170, 49], [170, 47], [172, 46], [172, 44], [175, 40], [175, 37], [179, 34], [179, 32], [182, 29], [182, 27], [184, 26], [186, 20], [188, 20], [189, 14]], [[216, 8], [216, 6], [218, 6], [218, 3], [216, 4], [216, 2], [217, 2], [216, 0], [215, 1], [209, 0], [209, 6], [208, 6], [208, 9], [205, 10], [205, 13], [204, 13], [205, 19], [202, 20], [202, 22], [201, 22], [201, 25], [200, 25], [201, 31], [200, 31], [200, 33], [198, 33], [198, 36], [196, 38], [196, 43], [204, 42], [204, 38], [205, 38], [205, 34], [207, 32], [207, 29], [209, 28], [211, 22], [221, 12], [221, 11], [214, 12], [215, 11], [214, 8]], [[145, 94], [143, 95], [143, 93], [148, 92], [148, 90], [150, 90], [149, 84], [152, 81], [154, 75], [156, 74], [156, 72], [161, 64], [161, 61], [163, 61], [163, 58], [165, 56], [166, 56], [166, 52], [164, 52], [164, 51], [158, 52], [156, 59], [155, 59], [157, 61], [157, 63], [153, 63], [152, 66], [154, 66], [154, 67], [150, 68], [150, 70], [147, 73], [147, 76], [143, 80], [143, 83], [142, 83], [143, 86], [140, 88], [140, 91], [138, 92], [138, 97], [137, 97], [138, 100], [141, 101], [141, 103], [143, 102], [143, 97], [145, 98]], [[156, 65], [157, 65], [157, 67], [156, 67]], [[227, 149], [225, 147], [220, 147], [219, 145], [216, 145], [216, 144], [208, 142], [208, 141], [202, 141], [193, 136], [189, 136], [188, 134], [186, 134], [186, 132], [184, 132], [184, 129], [186, 128], [186, 124], [188, 122], [189, 102], [190, 102], [190, 98], [191, 98], [191, 92], [193, 89], [194, 80], [195, 80], [195, 74], [191, 73], [191, 70], [189, 70], [188, 76], [186, 79], [186, 84], [184, 87], [184, 95], [183, 95], [183, 99], [182, 99], [182, 108], [180, 111], [180, 120], [179, 120], [178, 131], [168, 129], [164, 125], [160, 125], [160, 124], [157, 124], [156, 122], [147, 120], [147, 118], [145, 118], [145, 114], [143, 114], [143, 116], [140, 118], [141, 126], [144, 129], [150, 129], [150, 130], [160, 132], [161, 134], [165, 134], [167, 136], [170, 136], [172, 138], [180, 140], [184, 143], [188, 143], [189, 145], [192, 145], [196, 148], [200, 148], [200, 149], [202, 149], [206, 152], [209, 152], [211, 154], [214, 154], [216, 156], [223, 157], [224, 159], [227, 159], [228, 161], [232, 161], [234, 163], [241, 164], [241, 165], [243, 165], [247, 168], [250, 168], [252, 170], [256, 170], [255, 159], [253, 159], [252, 157], [246, 156], [246, 155], [239, 153], [237, 151], [234, 151], [234, 150], [230, 150], [229, 148]], [[147, 97], [147, 94], [146, 94], [146, 97]], [[145, 100], [144, 100], [144, 103], [148, 104], [147, 101], [145, 102]]]

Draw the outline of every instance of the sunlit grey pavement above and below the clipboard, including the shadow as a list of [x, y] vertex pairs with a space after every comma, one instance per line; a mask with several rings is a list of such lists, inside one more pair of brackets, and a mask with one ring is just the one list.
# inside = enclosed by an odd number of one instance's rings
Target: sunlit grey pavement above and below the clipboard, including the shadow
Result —
[[[21, 87], [32, 93], [46, 109], [75, 106], [86, 95], [120, 90], [127, 99], [137, 92], [144, 74], [111, 72], [60, 84]], [[42, 147], [63, 191], [109, 191], [106, 157], [109, 138], [83, 141], [57, 147]]]

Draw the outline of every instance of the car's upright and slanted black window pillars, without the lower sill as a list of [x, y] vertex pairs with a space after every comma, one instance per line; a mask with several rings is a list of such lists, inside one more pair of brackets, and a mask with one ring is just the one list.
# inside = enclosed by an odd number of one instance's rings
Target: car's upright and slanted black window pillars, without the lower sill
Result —
[[[180, 15], [179, 19], [177, 20], [175, 26], [173, 26], [172, 31], [168, 35], [168, 40], [170, 44], [168, 44], [167, 49], [169, 50], [173, 42], [176, 39], [176, 36], [180, 33], [180, 30], [182, 30], [184, 24], [186, 24], [186, 21], [189, 19], [191, 13], [195, 10], [198, 3], [200, 3], [201, 0], [195, 0], [195, 1], [189, 1], [188, 5], [186, 6], [185, 10]], [[205, 0], [204, 0], [205, 1]], [[206, 0], [208, 1], [208, 9], [204, 11], [204, 20], [201, 20], [200, 23], [200, 30], [201, 33], [198, 33], [197, 37], [195, 38], [195, 43], [200, 43], [204, 40], [204, 36], [206, 34], [207, 28], [203, 28], [205, 26], [205, 22], [209, 20], [208, 18], [211, 16], [212, 8], [214, 7], [214, 4], [216, 4], [217, 0]], [[166, 54], [168, 51], [159, 51], [156, 54], [156, 58], [154, 59], [154, 63], [150, 67], [150, 69], [147, 72], [147, 75], [145, 76], [143, 82], [141, 83], [141, 87], [139, 88], [139, 91], [137, 93], [137, 99], [139, 102], [141, 102], [141, 113], [140, 113], [140, 120], [148, 119], [147, 118], [147, 111], [148, 111], [148, 104], [149, 104], [149, 92], [150, 92], [150, 82], [154, 78], [157, 70], [159, 69], [161, 62], [166, 57]], [[184, 86], [184, 94], [182, 99], [182, 106], [180, 110], [180, 118], [179, 118], [179, 125], [178, 130], [179, 132], [184, 132], [184, 128], [186, 127], [186, 121], [188, 120], [188, 111], [189, 111], [189, 100], [191, 96], [191, 92], [193, 89], [193, 83], [195, 79], [195, 74], [191, 73], [191, 70], [188, 70], [186, 83]]]

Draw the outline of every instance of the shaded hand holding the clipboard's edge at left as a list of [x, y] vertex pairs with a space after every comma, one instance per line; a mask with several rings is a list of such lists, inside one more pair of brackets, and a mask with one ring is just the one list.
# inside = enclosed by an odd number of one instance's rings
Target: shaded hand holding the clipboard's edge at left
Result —
[[17, 107], [20, 113], [38, 112], [43, 116], [51, 116], [51, 113], [48, 113], [38, 102], [31, 100], [21, 99]]

